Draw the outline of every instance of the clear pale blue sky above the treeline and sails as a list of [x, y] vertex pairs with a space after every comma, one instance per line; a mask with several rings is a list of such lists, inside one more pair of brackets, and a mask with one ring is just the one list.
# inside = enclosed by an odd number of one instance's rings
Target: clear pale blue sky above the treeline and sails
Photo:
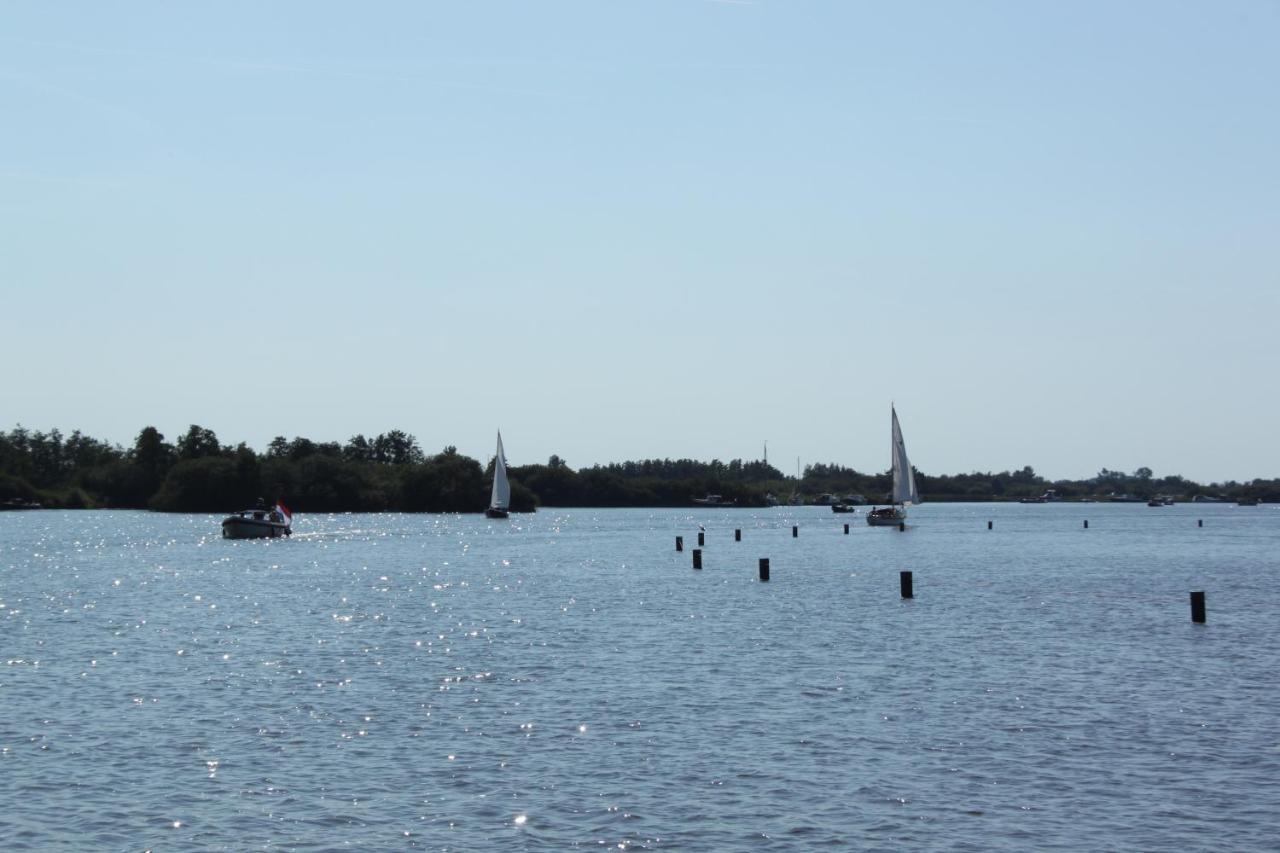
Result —
[[1280, 3], [0, 20], [0, 428], [1280, 476]]

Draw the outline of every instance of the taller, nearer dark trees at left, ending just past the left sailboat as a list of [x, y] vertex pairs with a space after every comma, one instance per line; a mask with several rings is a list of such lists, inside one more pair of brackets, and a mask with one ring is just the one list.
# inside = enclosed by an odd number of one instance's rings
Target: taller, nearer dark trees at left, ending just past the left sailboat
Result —
[[[489, 503], [488, 470], [453, 447], [428, 456], [393, 429], [346, 444], [278, 437], [264, 453], [232, 447], [192, 425], [175, 442], [154, 426], [124, 448], [82, 435], [0, 433], [0, 505], [225, 512], [257, 497], [305, 512], [477, 512]], [[517, 482], [512, 508], [530, 511], [534, 494]]]

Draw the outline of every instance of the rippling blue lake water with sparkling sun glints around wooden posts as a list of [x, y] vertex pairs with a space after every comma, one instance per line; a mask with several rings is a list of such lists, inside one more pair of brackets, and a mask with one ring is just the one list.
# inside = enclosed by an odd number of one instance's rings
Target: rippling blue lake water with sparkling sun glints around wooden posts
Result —
[[218, 523], [0, 514], [6, 850], [1280, 845], [1280, 507]]

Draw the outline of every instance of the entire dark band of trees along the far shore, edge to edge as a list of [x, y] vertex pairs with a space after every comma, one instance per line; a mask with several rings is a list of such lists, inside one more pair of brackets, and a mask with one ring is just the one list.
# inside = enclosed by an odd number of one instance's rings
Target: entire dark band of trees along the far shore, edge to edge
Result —
[[[708, 494], [739, 506], [765, 506], [769, 496], [860, 494], [884, 502], [888, 471], [868, 474], [841, 465], [810, 465], [796, 476], [763, 461], [641, 460], [575, 470], [559, 456], [544, 465], [508, 466], [512, 510], [538, 506], [672, 507]], [[1169, 496], [1179, 501], [1280, 501], [1280, 479], [1201, 484], [1102, 469], [1085, 480], [1046, 480], [1030, 466], [1018, 471], [932, 475], [916, 469], [928, 501], [1019, 501], [1052, 489], [1059, 500]], [[138, 508], [224, 512], [256, 498], [284, 501], [298, 512], [480, 512], [488, 505], [493, 460], [454, 447], [429, 455], [413, 435], [392, 429], [346, 443], [276, 437], [265, 451], [223, 444], [192, 424], [175, 441], [143, 428], [122, 447], [58, 429], [18, 425], [0, 432], [0, 508]]]

